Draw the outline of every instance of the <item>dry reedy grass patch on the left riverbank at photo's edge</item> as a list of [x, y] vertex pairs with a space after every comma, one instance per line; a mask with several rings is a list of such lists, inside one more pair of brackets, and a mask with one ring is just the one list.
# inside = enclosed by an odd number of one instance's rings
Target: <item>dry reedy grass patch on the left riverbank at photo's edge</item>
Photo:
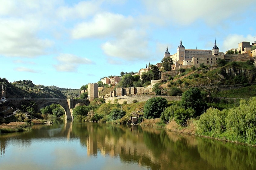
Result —
[[20, 132], [20, 131], [28, 131], [29, 124], [26, 122], [11, 122], [11, 123], [3, 123], [0, 125], [0, 134], [3, 133], [12, 133], [12, 132]]

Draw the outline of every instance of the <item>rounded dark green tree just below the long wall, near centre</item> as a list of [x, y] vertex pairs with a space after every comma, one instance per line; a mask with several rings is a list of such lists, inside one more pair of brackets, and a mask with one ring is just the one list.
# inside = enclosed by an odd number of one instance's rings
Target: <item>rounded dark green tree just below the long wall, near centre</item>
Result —
[[165, 98], [150, 98], [144, 105], [143, 117], [146, 119], [159, 118], [165, 107], [167, 107], [167, 100]]

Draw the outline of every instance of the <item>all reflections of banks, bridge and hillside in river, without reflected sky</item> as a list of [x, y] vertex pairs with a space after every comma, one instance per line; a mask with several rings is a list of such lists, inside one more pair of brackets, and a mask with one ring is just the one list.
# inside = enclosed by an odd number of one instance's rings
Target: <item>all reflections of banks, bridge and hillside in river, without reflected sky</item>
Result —
[[[110, 157], [120, 160], [123, 167], [133, 164], [137, 169], [256, 169], [254, 147], [136, 125], [74, 122], [36, 125], [31, 132], [0, 135], [1, 161], [10, 142], [14, 147], [29, 147], [34, 139], [42, 138], [49, 145], [53, 140], [78, 139], [88, 157], [96, 161]], [[72, 145], [75, 150], [76, 144]], [[104, 164], [102, 160], [100, 163]]]

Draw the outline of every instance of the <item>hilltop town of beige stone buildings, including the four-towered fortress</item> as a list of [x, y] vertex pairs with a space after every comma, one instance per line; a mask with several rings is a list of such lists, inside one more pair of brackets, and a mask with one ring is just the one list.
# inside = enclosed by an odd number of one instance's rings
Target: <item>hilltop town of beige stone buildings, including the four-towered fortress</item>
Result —
[[[130, 96], [130, 95], [139, 95], [139, 94], [150, 94], [152, 92], [152, 87], [155, 83], [164, 82], [170, 76], [174, 77], [177, 74], [180, 74], [181, 69], [190, 69], [190, 68], [199, 68], [201, 65], [206, 67], [214, 67], [217, 65], [218, 60], [225, 60], [226, 62], [232, 61], [250, 61], [256, 66], [255, 58], [256, 58], [256, 42], [254, 38], [254, 42], [250, 44], [250, 42], [240, 42], [238, 43], [237, 48], [232, 48], [228, 51], [220, 52], [220, 49], [217, 47], [216, 40], [214, 42], [213, 48], [211, 50], [205, 49], [186, 49], [182, 44], [182, 40], [177, 48], [177, 53], [170, 54], [168, 51], [168, 47], [166, 48], [166, 52], [163, 55], [163, 58], [170, 57], [172, 59], [172, 67], [171, 70], [165, 71], [162, 63], [157, 63], [154, 65], [147, 65], [146, 68], [142, 68], [138, 70], [137, 73], [131, 74], [132, 76], [139, 76], [141, 78], [143, 73], [149, 72], [152, 69], [152, 66], [157, 67], [161, 73], [161, 79], [151, 80], [151, 84], [147, 87], [128, 87], [128, 88], [112, 88], [112, 91], [107, 94], [99, 95], [99, 92], [103, 90], [103, 87], [98, 87], [97, 83], [89, 83], [88, 88], [86, 90], [80, 91], [80, 95], [82, 93], [88, 92], [88, 99], [91, 101], [94, 98], [103, 97], [122, 97], [122, 96]], [[103, 84], [107, 84], [110, 86], [116, 86], [120, 82], [119, 76], [113, 76], [110, 78], [104, 77], [101, 79]], [[121, 100], [122, 101], [122, 100]]]

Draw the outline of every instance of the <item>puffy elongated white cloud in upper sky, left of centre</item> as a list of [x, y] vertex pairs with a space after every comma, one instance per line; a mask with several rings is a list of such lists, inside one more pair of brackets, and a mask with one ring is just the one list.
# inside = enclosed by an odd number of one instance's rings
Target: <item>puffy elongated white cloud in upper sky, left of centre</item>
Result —
[[134, 23], [132, 17], [124, 17], [121, 14], [97, 14], [91, 22], [79, 23], [71, 32], [73, 39], [102, 38], [120, 34], [129, 29]]

